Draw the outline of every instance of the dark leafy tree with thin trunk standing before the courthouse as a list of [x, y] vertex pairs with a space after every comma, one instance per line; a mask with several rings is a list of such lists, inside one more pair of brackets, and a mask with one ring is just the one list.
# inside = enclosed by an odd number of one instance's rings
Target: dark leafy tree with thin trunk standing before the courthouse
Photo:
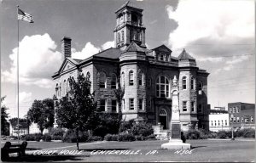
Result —
[[96, 115], [94, 93], [90, 93], [89, 77], [79, 75], [77, 82], [69, 78], [70, 91], [60, 99], [56, 118], [59, 126], [74, 129], [79, 150], [79, 132], [90, 129], [90, 121]]

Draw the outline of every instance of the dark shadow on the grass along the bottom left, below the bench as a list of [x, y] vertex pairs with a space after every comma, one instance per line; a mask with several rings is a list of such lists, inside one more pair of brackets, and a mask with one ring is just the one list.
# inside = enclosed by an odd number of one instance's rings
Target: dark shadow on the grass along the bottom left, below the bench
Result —
[[3, 161], [10, 162], [44, 162], [44, 161], [64, 161], [64, 160], [83, 160], [90, 155], [25, 155], [21, 157], [9, 157]]

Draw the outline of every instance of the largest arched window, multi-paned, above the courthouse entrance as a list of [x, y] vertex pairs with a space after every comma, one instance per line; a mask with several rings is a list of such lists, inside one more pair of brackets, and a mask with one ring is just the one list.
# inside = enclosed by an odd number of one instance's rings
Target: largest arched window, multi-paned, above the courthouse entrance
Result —
[[166, 76], [159, 76], [156, 80], [156, 97], [169, 98], [169, 81]]

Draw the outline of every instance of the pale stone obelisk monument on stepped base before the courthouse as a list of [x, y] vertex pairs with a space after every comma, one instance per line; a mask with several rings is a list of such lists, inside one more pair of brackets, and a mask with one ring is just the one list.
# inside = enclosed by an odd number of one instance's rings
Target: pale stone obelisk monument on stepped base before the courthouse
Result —
[[174, 76], [172, 84], [172, 120], [171, 120], [171, 137], [169, 143], [163, 143], [162, 149], [190, 149], [190, 143], [183, 143], [181, 139], [181, 126], [178, 108], [178, 87], [177, 77]]

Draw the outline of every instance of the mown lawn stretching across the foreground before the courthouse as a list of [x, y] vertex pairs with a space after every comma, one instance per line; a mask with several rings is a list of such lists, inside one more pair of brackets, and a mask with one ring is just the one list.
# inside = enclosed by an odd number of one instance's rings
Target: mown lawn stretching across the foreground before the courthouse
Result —
[[[253, 139], [243, 140], [188, 140], [191, 154], [177, 154], [176, 150], [160, 149], [167, 141], [137, 142], [96, 142], [79, 143], [81, 150], [76, 151], [75, 143], [29, 142], [23, 158], [12, 161], [88, 161], [88, 162], [134, 162], [134, 161], [253, 161], [255, 145]], [[35, 150], [54, 150], [54, 155], [33, 155]], [[61, 152], [79, 152], [77, 155], [58, 155]], [[102, 151], [102, 153], [100, 152]], [[108, 151], [108, 152], [107, 152]], [[108, 154], [106, 154], [106, 152]]]

